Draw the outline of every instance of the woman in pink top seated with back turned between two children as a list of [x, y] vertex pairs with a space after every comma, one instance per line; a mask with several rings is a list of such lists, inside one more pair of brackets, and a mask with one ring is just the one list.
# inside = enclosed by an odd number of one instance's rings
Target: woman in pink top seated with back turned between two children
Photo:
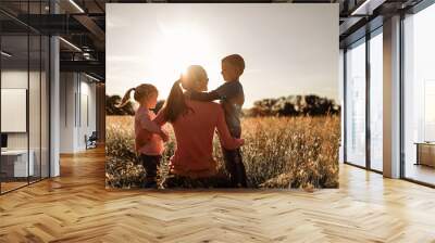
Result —
[[212, 155], [215, 130], [223, 148], [234, 150], [244, 143], [243, 139], [229, 135], [220, 104], [185, 98], [182, 87], [186, 90], [207, 91], [208, 80], [201, 66], [189, 66], [186, 75], [173, 85], [163, 108], [154, 119], [159, 126], [169, 122], [174, 128], [176, 149], [170, 161], [171, 174], [190, 178], [215, 175], [216, 162]]

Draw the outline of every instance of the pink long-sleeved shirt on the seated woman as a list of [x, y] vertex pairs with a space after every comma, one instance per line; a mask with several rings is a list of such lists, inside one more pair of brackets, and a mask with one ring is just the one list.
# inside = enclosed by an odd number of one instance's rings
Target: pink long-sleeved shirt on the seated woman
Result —
[[[225, 149], [237, 149], [243, 140], [231, 137], [220, 104], [190, 100], [186, 100], [186, 104], [191, 110], [179, 115], [172, 124], [176, 149], [170, 162], [171, 171], [189, 177], [212, 176], [216, 172], [216, 162], [213, 158], [214, 130], [217, 130], [221, 144]], [[162, 112], [154, 122], [160, 126], [166, 123]]]

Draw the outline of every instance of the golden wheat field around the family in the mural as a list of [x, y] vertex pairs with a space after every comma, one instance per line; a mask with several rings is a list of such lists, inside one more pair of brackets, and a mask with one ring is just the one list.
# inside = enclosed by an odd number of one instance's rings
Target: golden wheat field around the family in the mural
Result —
[[[140, 187], [145, 170], [134, 152], [134, 117], [108, 116], [105, 184], [108, 188]], [[338, 187], [339, 116], [247, 117], [243, 119], [243, 157], [250, 188]], [[159, 181], [167, 176], [167, 162], [175, 149], [170, 141], [159, 169]], [[219, 139], [214, 138], [219, 177], [207, 181], [181, 181], [182, 188], [225, 188], [229, 184]], [[224, 175], [224, 176], [222, 176]]]

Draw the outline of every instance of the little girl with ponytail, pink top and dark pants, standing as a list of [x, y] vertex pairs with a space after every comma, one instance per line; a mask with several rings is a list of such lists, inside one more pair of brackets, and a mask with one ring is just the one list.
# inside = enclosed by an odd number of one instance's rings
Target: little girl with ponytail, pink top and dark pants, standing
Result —
[[167, 135], [152, 122], [156, 114], [151, 110], [156, 107], [159, 92], [148, 84], [128, 89], [121, 107], [128, 102], [132, 91], [135, 91], [134, 99], [139, 103], [135, 114], [135, 149], [146, 171], [144, 187], [157, 188], [157, 167], [164, 151], [163, 140], [167, 140]]

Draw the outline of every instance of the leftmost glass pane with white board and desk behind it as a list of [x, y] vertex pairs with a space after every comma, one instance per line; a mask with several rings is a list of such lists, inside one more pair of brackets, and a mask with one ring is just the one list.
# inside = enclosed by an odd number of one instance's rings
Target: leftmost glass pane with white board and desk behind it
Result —
[[26, 186], [34, 176], [35, 165], [28, 163], [28, 44], [27, 35], [1, 37], [2, 192]]

